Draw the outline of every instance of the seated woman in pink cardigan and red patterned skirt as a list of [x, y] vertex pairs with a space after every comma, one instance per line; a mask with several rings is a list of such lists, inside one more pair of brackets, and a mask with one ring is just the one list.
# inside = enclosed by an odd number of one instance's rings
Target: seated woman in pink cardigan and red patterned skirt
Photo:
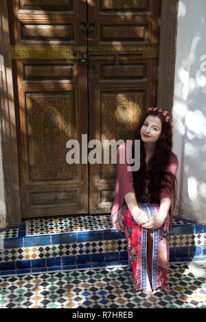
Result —
[[[128, 263], [133, 270], [135, 290], [152, 293], [156, 288], [169, 290], [169, 227], [176, 198], [178, 160], [172, 152], [172, 122], [167, 111], [149, 108], [137, 126], [140, 140], [140, 167], [128, 171], [119, 162], [115, 200], [111, 211], [113, 226], [126, 234]], [[134, 149], [134, 145], [133, 145]], [[134, 153], [133, 153], [134, 155]]]

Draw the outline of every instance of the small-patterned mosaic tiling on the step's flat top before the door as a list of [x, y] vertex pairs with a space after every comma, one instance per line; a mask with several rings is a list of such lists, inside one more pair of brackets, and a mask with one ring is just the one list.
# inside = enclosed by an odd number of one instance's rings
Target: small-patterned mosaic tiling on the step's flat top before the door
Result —
[[[191, 221], [174, 219], [174, 225], [191, 225]], [[57, 216], [26, 220], [26, 236], [58, 234], [63, 232], [86, 232], [113, 228], [111, 214]]]

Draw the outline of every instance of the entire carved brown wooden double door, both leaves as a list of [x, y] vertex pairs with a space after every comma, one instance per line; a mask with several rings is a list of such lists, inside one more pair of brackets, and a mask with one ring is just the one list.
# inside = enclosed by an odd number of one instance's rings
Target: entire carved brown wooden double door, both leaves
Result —
[[115, 165], [66, 143], [132, 138], [156, 103], [160, 2], [8, 0], [23, 217], [110, 212]]

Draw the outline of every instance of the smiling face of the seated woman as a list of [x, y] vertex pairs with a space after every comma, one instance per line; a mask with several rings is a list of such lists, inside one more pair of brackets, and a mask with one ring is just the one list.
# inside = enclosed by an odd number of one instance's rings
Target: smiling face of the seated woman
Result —
[[148, 115], [140, 129], [140, 134], [143, 142], [157, 142], [161, 135], [161, 119], [158, 116]]

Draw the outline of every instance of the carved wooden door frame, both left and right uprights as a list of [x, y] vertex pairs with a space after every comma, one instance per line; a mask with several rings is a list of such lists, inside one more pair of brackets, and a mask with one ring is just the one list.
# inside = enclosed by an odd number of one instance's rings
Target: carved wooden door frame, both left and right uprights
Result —
[[[159, 39], [159, 74], [157, 104], [172, 114], [174, 72], [176, 60], [176, 32], [179, 0], [161, 0], [161, 32]], [[0, 10], [0, 95], [1, 95], [1, 147], [6, 204], [6, 224], [21, 223], [19, 190], [19, 162], [17, 151], [12, 60], [8, 24], [7, 0], [1, 0]]]

